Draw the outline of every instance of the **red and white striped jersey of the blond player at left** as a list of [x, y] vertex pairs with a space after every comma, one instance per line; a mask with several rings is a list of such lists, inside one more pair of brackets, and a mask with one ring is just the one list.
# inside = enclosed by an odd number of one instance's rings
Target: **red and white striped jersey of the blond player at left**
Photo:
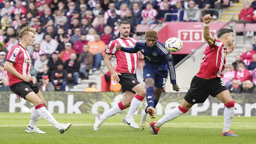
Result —
[[[31, 58], [28, 54], [28, 51], [23, 48], [20, 44], [17, 44], [12, 47], [8, 52], [6, 61], [14, 63], [13, 67], [23, 76], [30, 74], [31, 69]], [[16, 76], [13, 76], [11, 73], [7, 72], [9, 81], [9, 86], [19, 83], [22, 80]]]

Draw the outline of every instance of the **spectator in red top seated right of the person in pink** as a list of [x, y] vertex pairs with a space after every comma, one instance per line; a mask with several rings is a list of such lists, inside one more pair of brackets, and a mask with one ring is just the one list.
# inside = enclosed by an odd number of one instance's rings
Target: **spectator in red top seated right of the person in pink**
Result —
[[234, 79], [238, 80], [238, 84], [242, 84], [246, 80], [252, 81], [252, 78], [250, 76], [250, 72], [248, 69], [245, 68], [243, 63], [239, 63], [237, 65], [237, 71]]

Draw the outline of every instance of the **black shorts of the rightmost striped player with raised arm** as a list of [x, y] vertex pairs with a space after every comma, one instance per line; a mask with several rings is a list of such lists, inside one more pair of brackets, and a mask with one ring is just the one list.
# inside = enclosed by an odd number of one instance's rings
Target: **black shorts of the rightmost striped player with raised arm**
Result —
[[204, 103], [209, 95], [216, 97], [220, 92], [228, 90], [220, 77], [204, 79], [194, 76], [190, 89], [184, 99], [190, 104]]

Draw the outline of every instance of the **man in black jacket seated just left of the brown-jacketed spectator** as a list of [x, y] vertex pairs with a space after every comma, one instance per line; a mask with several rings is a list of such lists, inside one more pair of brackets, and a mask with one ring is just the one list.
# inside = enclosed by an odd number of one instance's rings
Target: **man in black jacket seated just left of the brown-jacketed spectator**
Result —
[[80, 62], [78, 62], [76, 58], [76, 53], [71, 53], [70, 59], [64, 63], [64, 69], [68, 72], [68, 78], [73, 78], [74, 80], [74, 89], [77, 89], [77, 80], [80, 77]]

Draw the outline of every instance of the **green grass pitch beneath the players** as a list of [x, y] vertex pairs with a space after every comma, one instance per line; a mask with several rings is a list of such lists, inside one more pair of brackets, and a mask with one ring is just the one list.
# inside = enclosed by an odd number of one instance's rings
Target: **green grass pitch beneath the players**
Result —
[[[64, 134], [49, 125], [43, 118], [38, 128], [46, 132], [25, 133], [29, 113], [0, 113], [0, 144], [252, 144], [256, 143], [256, 117], [238, 117], [233, 119], [231, 131], [239, 137], [221, 136], [223, 116], [180, 116], [164, 124], [158, 135], [150, 134], [147, 124], [144, 129], [134, 130], [123, 124], [125, 115], [108, 118], [100, 126], [99, 131], [93, 131], [94, 115], [92, 114], [53, 114], [60, 123], [72, 123]], [[162, 116], [157, 115], [155, 120]], [[140, 115], [134, 116], [137, 123]], [[151, 121], [148, 116], [148, 123]]]

